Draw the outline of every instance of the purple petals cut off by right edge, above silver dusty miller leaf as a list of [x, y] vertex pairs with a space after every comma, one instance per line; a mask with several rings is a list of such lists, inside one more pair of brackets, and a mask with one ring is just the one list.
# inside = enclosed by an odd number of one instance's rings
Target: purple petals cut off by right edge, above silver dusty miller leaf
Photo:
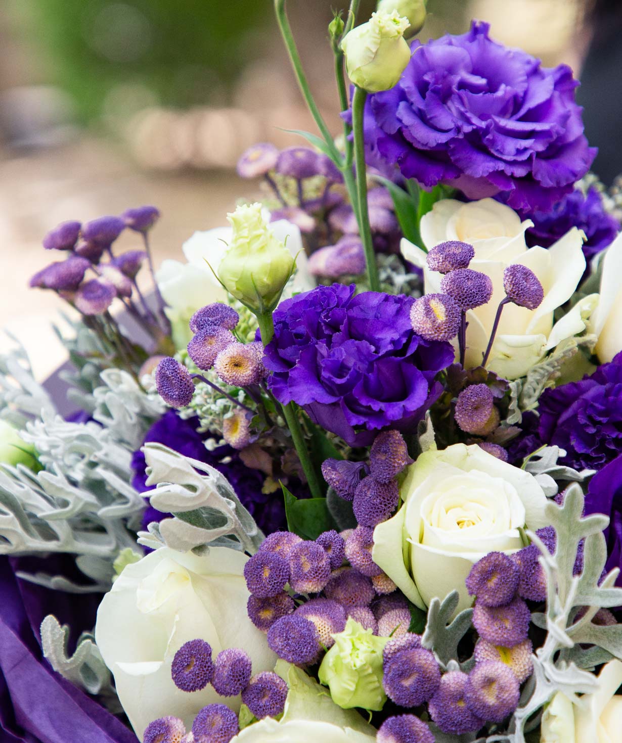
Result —
[[[609, 516], [609, 526], [604, 532], [607, 542], [605, 570], [622, 568], [622, 455], [610, 461], [590, 481], [585, 514], [590, 513]], [[622, 586], [622, 572], [615, 584]]]

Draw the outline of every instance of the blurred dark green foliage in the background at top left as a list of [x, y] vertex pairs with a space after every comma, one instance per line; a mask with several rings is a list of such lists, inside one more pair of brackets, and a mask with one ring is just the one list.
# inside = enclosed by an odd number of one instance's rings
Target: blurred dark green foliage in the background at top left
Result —
[[165, 106], [206, 103], [258, 52], [270, 0], [14, 0], [51, 82], [98, 117], [115, 85], [144, 85]]

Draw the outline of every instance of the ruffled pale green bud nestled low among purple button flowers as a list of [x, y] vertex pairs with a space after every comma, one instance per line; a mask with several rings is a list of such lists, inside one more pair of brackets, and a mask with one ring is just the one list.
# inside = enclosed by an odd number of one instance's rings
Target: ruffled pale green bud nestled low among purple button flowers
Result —
[[382, 653], [389, 637], [376, 637], [353, 619], [333, 637], [334, 645], [318, 671], [320, 681], [331, 690], [332, 700], [344, 710], [381, 710], [386, 702]]

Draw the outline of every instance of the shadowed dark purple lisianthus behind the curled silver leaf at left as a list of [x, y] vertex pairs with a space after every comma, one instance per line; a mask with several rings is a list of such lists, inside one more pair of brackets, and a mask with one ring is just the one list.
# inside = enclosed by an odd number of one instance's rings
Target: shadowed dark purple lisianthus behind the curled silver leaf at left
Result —
[[[259, 470], [251, 470], [242, 459], [239, 452], [225, 444], [209, 451], [204, 445], [204, 436], [196, 431], [196, 418], [180, 418], [174, 410], [167, 410], [159, 421], [151, 426], [146, 433], [145, 441], [157, 441], [184, 456], [198, 459], [214, 467], [222, 473], [233, 486], [236, 495], [256, 520], [259, 528], [265, 533], [279, 531], [286, 528], [285, 506], [282, 498], [274, 494], [262, 493], [264, 478]], [[206, 435], [206, 438], [210, 434]], [[139, 493], [151, 490], [146, 484], [145, 455], [140, 450], [132, 457], [132, 486]], [[169, 516], [148, 505], [143, 513], [143, 528], [152, 522], [160, 522]]]

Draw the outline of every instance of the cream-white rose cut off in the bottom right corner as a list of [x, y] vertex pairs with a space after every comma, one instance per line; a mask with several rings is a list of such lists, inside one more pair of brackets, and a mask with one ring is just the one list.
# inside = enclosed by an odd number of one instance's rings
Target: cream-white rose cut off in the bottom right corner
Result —
[[598, 675], [598, 688], [574, 706], [562, 692], [542, 715], [541, 743], [617, 743], [622, 730], [622, 663], [609, 661]]

